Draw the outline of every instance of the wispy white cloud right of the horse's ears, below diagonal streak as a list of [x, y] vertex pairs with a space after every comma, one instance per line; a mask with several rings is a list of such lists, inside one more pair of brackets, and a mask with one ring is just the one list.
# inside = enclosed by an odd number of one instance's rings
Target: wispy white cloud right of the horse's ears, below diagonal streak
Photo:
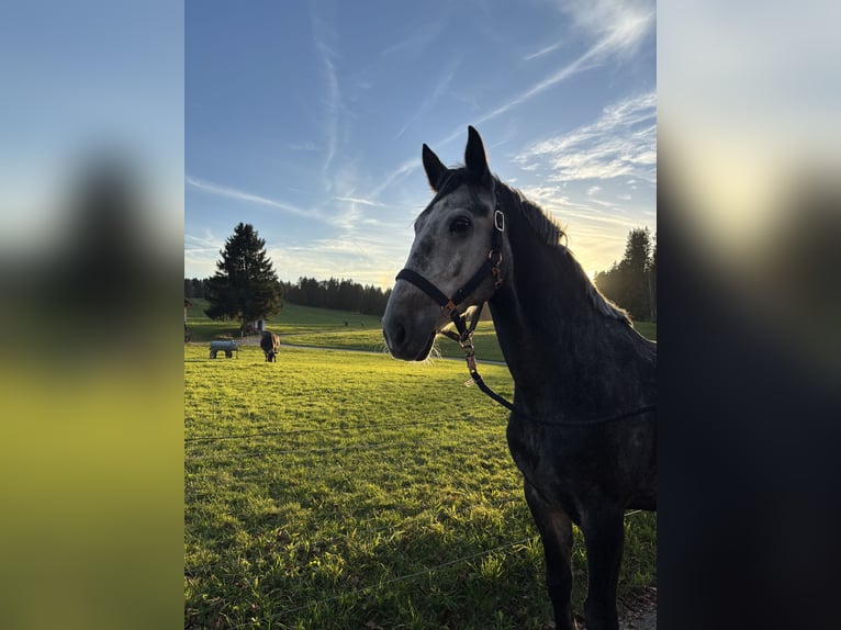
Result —
[[540, 165], [552, 181], [632, 176], [657, 180], [657, 94], [652, 91], [605, 108], [597, 121], [527, 147], [523, 168]]

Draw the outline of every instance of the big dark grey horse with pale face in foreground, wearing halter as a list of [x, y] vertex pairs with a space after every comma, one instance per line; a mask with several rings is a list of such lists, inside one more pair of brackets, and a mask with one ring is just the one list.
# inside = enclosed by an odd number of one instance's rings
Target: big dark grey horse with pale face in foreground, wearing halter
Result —
[[657, 507], [657, 345], [591, 283], [560, 226], [491, 175], [473, 127], [464, 167], [448, 169], [426, 145], [423, 161], [436, 195], [415, 221], [385, 342], [394, 357], [424, 360], [459, 307], [489, 303], [515, 384], [508, 448], [543, 542], [556, 628], [575, 628], [574, 522], [587, 629], [615, 630], [624, 513]]

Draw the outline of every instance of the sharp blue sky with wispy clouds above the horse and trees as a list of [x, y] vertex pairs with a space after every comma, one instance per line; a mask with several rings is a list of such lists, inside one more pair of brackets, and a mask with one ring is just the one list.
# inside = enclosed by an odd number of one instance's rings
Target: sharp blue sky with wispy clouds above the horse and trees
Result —
[[657, 232], [653, 1], [187, 0], [184, 275], [239, 223], [278, 277], [391, 286], [431, 199], [424, 143], [565, 227], [592, 277]]

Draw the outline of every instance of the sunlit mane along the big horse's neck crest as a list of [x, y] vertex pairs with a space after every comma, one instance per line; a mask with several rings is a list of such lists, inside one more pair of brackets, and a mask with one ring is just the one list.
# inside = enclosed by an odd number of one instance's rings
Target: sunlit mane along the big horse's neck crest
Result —
[[502, 205], [505, 207], [516, 207], [519, 215], [526, 220], [526, 223], [538, 239], [556, 248], [560, 256], [569, 260], [576, 280], [596, 311], [605, 317], [618, 319], [630, 325], [628, 313], [604, 296], [593, 281], [587, 278], [587, 274], [584, 273], [584, 269], [582, 269], [581, 263], [570, 251], [569, 247], [561, 243], [561, 240], [567, 240], [567, 233], [561, 224], [535, 202], [527, 199], [518, 189], [503, 183], [496, 177], [494, 177], [494, 182], [496, 184], [496, 195]]

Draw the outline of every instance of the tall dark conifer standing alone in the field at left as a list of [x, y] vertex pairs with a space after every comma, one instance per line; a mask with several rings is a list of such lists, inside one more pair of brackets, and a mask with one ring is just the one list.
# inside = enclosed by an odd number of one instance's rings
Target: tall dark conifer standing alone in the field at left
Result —
[[280, 313], [283, 291], [253, 225], [239, 223], [220, 251], [216, 273], [208, 280], [204, 313], [211, 319], [239, 319], [242, 326]]

